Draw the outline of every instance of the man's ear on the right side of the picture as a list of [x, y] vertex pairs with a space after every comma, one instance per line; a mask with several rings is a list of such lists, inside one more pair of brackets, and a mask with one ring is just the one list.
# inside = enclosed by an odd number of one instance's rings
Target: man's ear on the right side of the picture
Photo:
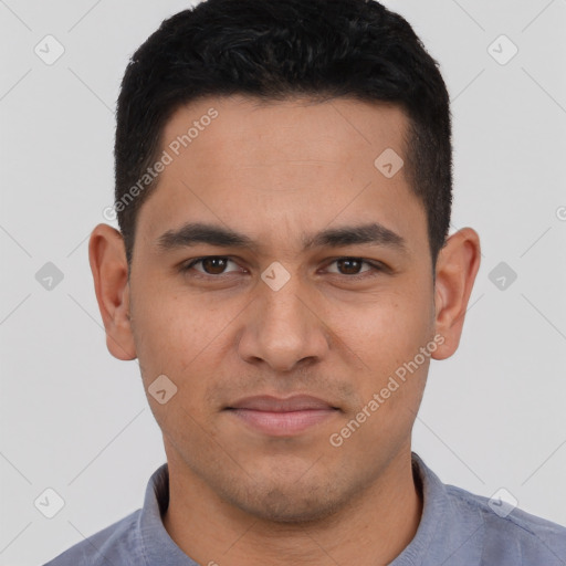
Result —
[[432, 354], [434, 359], [446, 359], [458, 349], [480, 256], [480, 237], [471, 228], [452, 234], [440, 250], [436, 268], [434, 323], [436, 334], [444, 340]]

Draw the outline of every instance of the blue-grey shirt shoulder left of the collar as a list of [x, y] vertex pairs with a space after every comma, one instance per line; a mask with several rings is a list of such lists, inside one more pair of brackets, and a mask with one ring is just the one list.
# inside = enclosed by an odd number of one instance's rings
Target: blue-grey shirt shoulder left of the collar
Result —
[[44, 566], [143, 565], [143, 545], [138, 535], [142, 510], [98, 531], [48, 562]]

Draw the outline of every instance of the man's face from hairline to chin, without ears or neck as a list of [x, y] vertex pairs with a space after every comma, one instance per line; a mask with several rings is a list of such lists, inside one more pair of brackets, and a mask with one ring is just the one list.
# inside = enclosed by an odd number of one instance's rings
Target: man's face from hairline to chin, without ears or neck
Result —
[[146, 391], [167, 376], [168, 400], [147, 398], [169, 465], [258, 517], [326, 516], [409, 450], [443, 338], [423, 206], [402, 167], [375, 165], [403, 158], [406, 128], [390, 105], [231, 97], [164, 130], [125, 289], [132, 349]]

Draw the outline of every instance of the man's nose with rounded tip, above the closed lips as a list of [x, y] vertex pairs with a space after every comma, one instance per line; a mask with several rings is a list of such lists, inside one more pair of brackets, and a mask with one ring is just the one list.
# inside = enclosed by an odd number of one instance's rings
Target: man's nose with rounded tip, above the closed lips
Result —
[[324, 358], [329, 333], [307, 291], [298, 275], [292, 275], [277, 291], [259, 283], [256, 297], [245, 310], [238, 346], [243, 360], [264, 363], [273, 371], [292, 371]]

